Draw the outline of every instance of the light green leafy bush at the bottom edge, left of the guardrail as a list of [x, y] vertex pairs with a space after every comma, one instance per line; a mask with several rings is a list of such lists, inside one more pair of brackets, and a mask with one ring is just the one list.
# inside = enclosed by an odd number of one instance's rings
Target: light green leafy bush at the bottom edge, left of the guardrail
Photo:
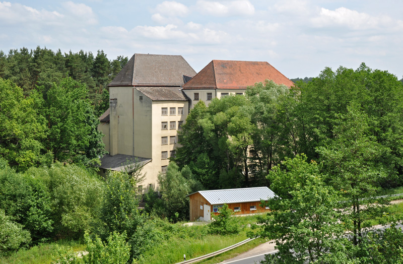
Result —
[[114, 231], [107, 238], [107, 243], [103, 243], [98, 236], [95, 236], [93, 241], [88, 233], [85, 233], [84, 238], [88, 251], [88, 255], [84, 258], [85, 263], [126, 264], [129, 260], [130, 246], [126, 243], [126, 233], [119, 235]]

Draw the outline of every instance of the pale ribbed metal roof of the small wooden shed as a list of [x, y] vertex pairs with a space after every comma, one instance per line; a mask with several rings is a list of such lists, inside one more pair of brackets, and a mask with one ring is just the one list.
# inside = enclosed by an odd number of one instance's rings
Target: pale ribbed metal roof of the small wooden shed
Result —
[[198, 193], [205, 197], [205, 199], [211, 205], [258, 202], [260, 200], [266, 201], [277, 196], [271, 189], [267, 187], [199, 190]]

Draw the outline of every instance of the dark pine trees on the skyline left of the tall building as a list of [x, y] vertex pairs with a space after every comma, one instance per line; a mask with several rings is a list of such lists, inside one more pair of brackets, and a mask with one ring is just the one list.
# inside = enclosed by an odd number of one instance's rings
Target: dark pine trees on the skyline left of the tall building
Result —
[[0, 51], [0, 78], [10, 80], [23, 89], [25, 96], [30, 95], [37, 86], [48, 90], [53, 83], [69, 76], [86, 85], [91, 104], [96, 115], [102, 114], [109, 107], [107, 84], [115, 78], [128, 61], [127, 57], [118, 56], [109, 60], [103, 50], [97, 55], [80, 50], [77, 53], [52, 51], [47, 48], [28, 50], [12, 49], [6, 54]]

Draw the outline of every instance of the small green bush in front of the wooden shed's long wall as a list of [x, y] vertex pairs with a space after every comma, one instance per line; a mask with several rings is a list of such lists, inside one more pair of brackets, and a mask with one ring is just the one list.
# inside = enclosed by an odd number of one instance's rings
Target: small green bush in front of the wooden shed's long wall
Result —
[[213, 216], [214, 221], [209, 224], [209, 234], [229, 235], [239, 233], [238, 224], [236, 219], [231, 217], [232, 214], [232, 210], [228, 208], [228, 205], [224, 204], [219, 209], [219, 214]]

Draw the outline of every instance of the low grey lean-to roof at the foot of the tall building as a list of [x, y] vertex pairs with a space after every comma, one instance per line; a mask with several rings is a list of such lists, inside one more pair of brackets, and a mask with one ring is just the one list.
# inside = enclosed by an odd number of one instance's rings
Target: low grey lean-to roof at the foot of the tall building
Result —
[[117, 154], [114, 156], [110, 156], [106, 154], [101, 158], [101, 169], [108, 169], [108, 170], [115, 170], [115, 171], [122, 171], [126, 165], [135, 164], [139, 162], [142, 166], [149, 163], [151, 159]]

